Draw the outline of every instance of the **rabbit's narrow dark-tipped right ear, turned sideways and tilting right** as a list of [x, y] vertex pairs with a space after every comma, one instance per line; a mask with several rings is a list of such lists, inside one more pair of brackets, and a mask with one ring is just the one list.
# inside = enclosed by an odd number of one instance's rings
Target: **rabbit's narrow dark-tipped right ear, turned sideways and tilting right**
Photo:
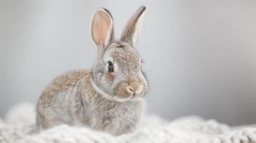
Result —
[[141, 23], [143, 20], [143, 15], [146, 12], [146, 6], [141, 6], [138, 8], [135, 14], [131, 16], [129, 21], [126, 23], [123, 33], [121, 34], [120, 41], [125, 41], [132, 46], [136, 45], [137, 36], [141, 29]]

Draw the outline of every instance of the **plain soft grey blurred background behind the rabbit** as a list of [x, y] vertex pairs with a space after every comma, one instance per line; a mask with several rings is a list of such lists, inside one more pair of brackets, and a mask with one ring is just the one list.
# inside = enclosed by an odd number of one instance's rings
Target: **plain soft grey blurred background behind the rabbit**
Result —
[[256, 1], [0, 1], [0, 115], [37, 102], [70, 69], [90, 68], [90, 19], [113, 14], [118, 38], [138, 6], [148, 6], [137, 49], [151, 94], [148, 112], [196, 114], [227, 124], [256, 123]]

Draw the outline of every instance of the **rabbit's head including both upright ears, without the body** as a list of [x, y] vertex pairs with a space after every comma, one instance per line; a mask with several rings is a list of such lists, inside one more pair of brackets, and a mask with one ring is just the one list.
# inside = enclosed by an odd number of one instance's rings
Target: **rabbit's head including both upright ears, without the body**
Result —
[[145, 11], [146, 6], [141, 6], [133, 14], [120, 40], [115, 40], [113, 18], [108, 10], [98, 9], [93, 14], [91, 36], [98, 46], [98, 56], [91, 82], [105, 98], [123, 102], [141, 99], [146, 94], [148, 84], [135, 49]]

